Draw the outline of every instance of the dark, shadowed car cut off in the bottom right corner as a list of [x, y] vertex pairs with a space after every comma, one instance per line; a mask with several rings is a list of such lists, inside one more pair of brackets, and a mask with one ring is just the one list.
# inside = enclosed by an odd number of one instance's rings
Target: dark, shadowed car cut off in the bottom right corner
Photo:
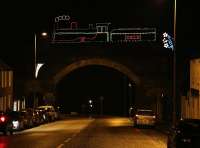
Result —
[[167, 148], [200, 148], [200, 119], [182, 119], [171, 127]]

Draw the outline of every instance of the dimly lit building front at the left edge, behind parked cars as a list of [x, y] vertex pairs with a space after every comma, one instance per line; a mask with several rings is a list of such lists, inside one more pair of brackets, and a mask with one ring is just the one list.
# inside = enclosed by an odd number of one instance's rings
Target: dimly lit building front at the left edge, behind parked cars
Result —
[[0, 111], [13, 107], [13, 71], [0, 61]]

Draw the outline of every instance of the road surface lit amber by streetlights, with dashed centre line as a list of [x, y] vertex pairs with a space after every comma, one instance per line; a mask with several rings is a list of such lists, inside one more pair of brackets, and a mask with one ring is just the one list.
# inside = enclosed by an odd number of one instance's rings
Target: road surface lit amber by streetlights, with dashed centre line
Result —
[[0, 148], [166, 148], [166, 136], [138, 129], [128, 118], [65, 119], [14, 135], [0, 135]]

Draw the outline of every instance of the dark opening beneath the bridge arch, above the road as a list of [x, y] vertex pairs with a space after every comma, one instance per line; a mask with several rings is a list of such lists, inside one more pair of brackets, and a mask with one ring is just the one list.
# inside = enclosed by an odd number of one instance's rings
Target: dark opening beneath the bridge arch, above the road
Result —
[[135, 85], [116, 69], [88, 65], [57, 83], [56, 103], [65, 113], [127, 116], [134, 104]]

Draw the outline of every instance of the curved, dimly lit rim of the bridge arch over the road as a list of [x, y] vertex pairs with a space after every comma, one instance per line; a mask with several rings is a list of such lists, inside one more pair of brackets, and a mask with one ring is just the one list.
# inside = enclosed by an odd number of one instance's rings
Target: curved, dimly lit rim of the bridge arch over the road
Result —
[[66, 75], [71, 73], [72, 71], [85, 67], [90, 65], [99, 65], [99, 66], [105, 66], [112, 69], [115, 69], [124, 75], [126, 75], [132, 82], [134, 82], [136, 85], [139, 85], [141, 83], [139, 77], [134, 74], [133, 71], [131, 71], [127, 66], [124, 66], [123, 64], [120, 64], [118, 62], [115, 62], [113, 60], [109, 60], [106, 58], [89, 58], [89, 59], [81, 59], [79, 61], [76, 61], [70, 65], [67, 65], [64, 69], [60, 70], [55, 76], [53, 76], [53, 83], [54, 86]]

